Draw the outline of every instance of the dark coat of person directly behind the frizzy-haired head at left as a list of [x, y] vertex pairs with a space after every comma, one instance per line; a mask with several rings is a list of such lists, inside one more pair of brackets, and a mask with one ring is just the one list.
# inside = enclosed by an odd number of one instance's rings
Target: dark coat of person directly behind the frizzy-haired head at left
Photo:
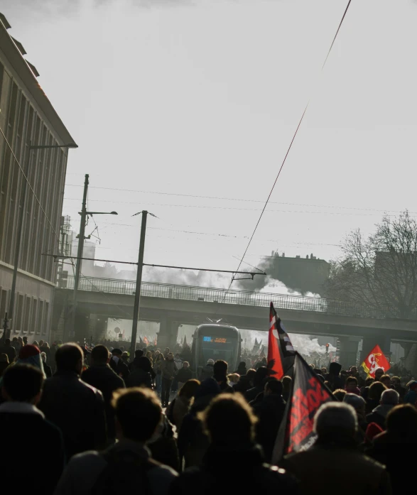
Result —
[[124, 381], [114, 373], [108, 364], [91, 366], [82, 373], [82, 381], [89, 384], [103, 394], [104, 408], [107, 420], [107, 435], [109, 440], [116, 437], [116, 428], [114, 425], [114, 409], [112, 408], [113, 392], [118, 388], [124, 388]]

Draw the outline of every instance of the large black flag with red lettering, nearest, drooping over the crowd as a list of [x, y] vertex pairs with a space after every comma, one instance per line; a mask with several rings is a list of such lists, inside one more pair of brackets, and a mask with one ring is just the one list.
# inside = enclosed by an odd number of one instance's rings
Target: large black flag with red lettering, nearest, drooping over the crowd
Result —
[[292, 391], [276, 437], [273, 464], [290, 452], [307, 450], [313, 445], [316, 438], [313, 432], [315, 413], [322, 404], [334, 400], [330, 390], [296, 352]]

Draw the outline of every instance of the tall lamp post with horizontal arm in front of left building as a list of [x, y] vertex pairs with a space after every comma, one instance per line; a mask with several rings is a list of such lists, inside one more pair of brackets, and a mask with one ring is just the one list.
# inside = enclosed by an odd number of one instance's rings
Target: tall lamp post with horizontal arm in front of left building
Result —
[[[22, 201], [21, 201], [21, 209], [18, 212], [18, 224], [17, 224], [17, 231], [16, 231], [16, 245], [14, 248], [13, 278], [11, 281], [11, 294], [10, 294], [10, 302], [9, 302], [9, 311], [7, 312], [9, 320], [11, 321], [11, 325], [13, 325], [13, 322], [11, 319], [13, 318], [14, 300], [16, 298], [16, 281], [17, 281], [17, 272], [18, 272], [18, 262], [19, 262], [20, 253], [21, 253], [23, 214], [24, 214], [25, 209], [26, 209], [26, 190], [27, 190], [27, 183], [28, 183], [29, 168], [31, 165], [31, 151], [32, 150], [44, 150], [44, 149], [50, 149], [50, 148], [78, 148], [78, 146], [75, 143], [32, 145], [32, 141], [29, 141], [28, 155], [26, 157], [26, 164], [25, 164], [25, 170], [24, 170], [25, 176], [23, 177], [23, 183], [22, 183], [22, 188], [21, 188]], [[11, 331], [10, 329], [4, 330], [3, 335], [1, 336], [1, 339], [0, 339], [1, 342], [4, 342], [4, 340], [6, 339], [6, 333], [8, 334], [7, 337], [9, 337], [10, 331]]]

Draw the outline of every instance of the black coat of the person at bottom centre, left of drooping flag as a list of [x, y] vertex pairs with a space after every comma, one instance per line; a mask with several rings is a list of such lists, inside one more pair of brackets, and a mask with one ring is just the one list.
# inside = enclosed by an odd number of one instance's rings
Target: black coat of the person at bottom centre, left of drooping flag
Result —
[[174, 479], [170, 495], [298, 495], [295, 479], [283, 469], [264, 464], [259, 448], [209, 447], [202, 467], [191, 467]]

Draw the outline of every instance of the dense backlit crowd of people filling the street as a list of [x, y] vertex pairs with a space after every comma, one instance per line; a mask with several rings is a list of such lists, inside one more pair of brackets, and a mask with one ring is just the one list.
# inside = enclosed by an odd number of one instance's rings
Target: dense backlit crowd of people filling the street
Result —
[[292, 379], [271, 376], [264, 359], [237, 369], [210, 359], [196, 373], [168, 348], [129, 359], [121, 347], [16, 341], [0, 347], [1, 465], [14, 486], [38, 480], [45, 495], [389, 495], [412, 485], [417, 381], [311, 365], [337, 400], [315, 415], [313, 447], [276, 466]]

